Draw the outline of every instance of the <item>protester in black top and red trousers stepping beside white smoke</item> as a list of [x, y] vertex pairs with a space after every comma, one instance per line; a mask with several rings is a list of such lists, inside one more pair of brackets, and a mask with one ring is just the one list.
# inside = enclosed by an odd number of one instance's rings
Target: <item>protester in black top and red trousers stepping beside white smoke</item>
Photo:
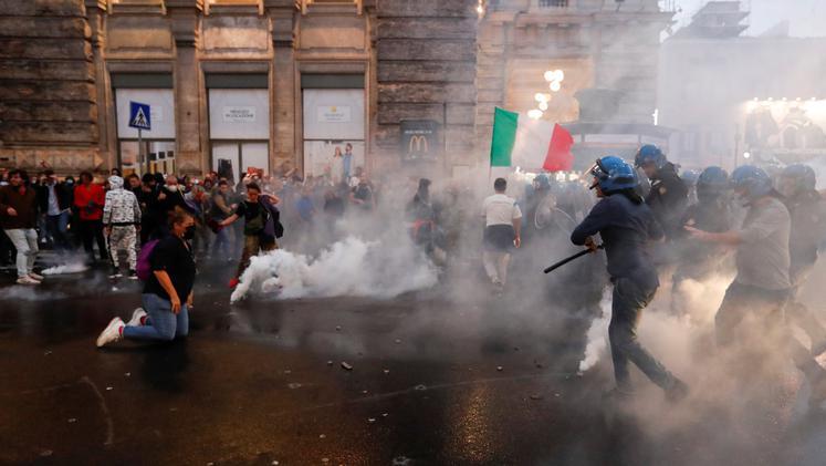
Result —
[[241, 217], [244, 219], [243, 252], [238, 263], [238, 271], [230, 280], [230, 288], [238, 284], [238, 279], [249, 267], [252, 256], [259, 251], [266, 252], [279, 248], [275, 239], [280, 236], [280, 231], [278, 231], [280, 213], [275, 208], [279, 201], [279, 198], [274, 195], [262, 196], [261, 188], [257, 184], [250, 183], [247, 185], [247, 200], [240, 203], [236, 211], [219, 224], [221, 227], [228, 227]]

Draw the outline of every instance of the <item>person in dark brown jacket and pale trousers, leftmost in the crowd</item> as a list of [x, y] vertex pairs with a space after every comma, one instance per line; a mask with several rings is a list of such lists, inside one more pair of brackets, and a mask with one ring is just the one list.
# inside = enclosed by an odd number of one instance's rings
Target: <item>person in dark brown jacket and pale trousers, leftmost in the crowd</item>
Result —
[[28, 186], [25, 172], [9, 172], [9, 184], [0, 187], [0, 227], [9, 237], [17, 253], [18, 283], [40, 284], [43, 276], [34, 273], [38, 257], [38, 196]]

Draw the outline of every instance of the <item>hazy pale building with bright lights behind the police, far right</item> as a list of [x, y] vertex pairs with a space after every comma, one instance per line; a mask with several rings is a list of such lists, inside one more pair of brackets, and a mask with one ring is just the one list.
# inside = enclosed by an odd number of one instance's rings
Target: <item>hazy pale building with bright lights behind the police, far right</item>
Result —
[[826, 157], [826, 39], [790, 38], [782, 23], [743, 37], [747, 14], [710, 2], [662, 44], [659, 121], [679, 130], [671, 155], [684, 167]]

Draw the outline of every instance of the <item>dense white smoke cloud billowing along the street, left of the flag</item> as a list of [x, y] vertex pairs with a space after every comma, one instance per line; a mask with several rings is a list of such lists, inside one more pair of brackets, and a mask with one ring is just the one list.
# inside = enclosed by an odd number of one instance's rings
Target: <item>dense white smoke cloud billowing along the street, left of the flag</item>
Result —
[[321, 251], [317, 258], [275, 250], [253, 257], [232, 292], [231, 302], [250, 292], [279, 298], [357, 296], [394, 298], [432, 287], [433, 265], [409, 241], [388, 246], [381, 240], [348, 237]]

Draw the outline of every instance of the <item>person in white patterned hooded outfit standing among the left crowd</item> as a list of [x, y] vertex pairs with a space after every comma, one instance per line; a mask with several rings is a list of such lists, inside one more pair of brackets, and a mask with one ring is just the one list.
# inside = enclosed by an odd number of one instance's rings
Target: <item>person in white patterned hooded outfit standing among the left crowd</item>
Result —
[[129, 279], [136, 280], [137, 273], [137, 230], [140, 228], [140, 205], [135, 193], [124, 189], [124, 179], [113, 175], [109, 177], [111, 189], [106, 193], [103, 206], [103, 224], [108, 240], [109, 257], [112, 258], [112, 275], [109, 278], [121, 278], [118, 253], [126, 251], [129, 261]]

